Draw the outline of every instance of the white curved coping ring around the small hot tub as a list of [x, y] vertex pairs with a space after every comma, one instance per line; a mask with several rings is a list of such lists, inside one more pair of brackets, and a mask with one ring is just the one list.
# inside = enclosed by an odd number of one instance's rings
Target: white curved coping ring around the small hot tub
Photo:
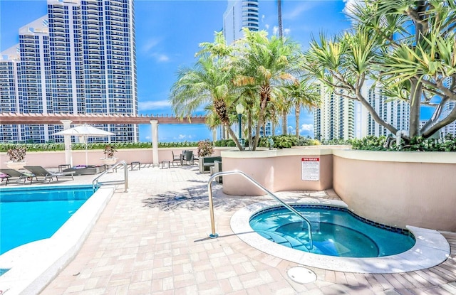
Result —
[[[347, 208], [346, 203], [341, 200], [316, 200], [315, 198], [304, 198], [288, 204], [332, 205]], [[278, 203], [276, 202], [261, 202], [238, 210], [230, 220], [234, 234], [248, 245], [275, 257], [308, 267], [318, 267], [336, 272], [370, 274], [413, 272], [419, 269], [435, 267], [450, 256], [450, 245], [440, 232], [413, 226], [407, 226], [407, 229], [415, 236], [415, 245], [406, 252], [385, 257], [333, 257], [291, 249], [261, 237], [249, 225], [249, 219], [252, 215], [259, 210], [276, 207], [277, 205]]]

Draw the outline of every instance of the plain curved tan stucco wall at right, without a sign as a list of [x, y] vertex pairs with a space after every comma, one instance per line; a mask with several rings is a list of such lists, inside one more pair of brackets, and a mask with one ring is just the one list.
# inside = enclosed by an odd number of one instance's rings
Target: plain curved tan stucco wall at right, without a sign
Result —
[[333, 188], [369, 220], [456, 231], [456, 153], [334, 151]]

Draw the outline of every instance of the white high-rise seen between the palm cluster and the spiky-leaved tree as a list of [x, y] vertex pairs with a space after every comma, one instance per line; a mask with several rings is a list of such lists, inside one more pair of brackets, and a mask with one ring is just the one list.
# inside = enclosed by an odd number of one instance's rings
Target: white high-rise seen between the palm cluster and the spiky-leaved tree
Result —
[[[342, 91], [342, 90], [341, 90]], [[319, 140], [353, 139], [355, 103], [320, 86], [321, 106], [314, 111], [314, 134]]]

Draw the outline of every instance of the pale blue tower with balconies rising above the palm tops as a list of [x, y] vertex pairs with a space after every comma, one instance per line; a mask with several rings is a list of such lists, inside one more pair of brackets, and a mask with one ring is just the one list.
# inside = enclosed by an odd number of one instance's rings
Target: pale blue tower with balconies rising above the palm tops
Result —
[[223, 34], [227, 44], [244, 37], [242, 28], [259, 30], [258, 0], [228, 1], [228, 8], [223, 14]]

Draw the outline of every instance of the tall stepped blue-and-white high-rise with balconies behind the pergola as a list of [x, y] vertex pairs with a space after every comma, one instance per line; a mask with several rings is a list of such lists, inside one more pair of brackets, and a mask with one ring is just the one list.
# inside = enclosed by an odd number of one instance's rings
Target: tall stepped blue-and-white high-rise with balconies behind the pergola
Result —
[[[1, 53], [0, 112], [138, 114], [134, 15], [133, 0], [48, 0], [48, 14]], [[98, 127], [112, 141], [139, 138], [135, 125]], [[63, 141], [52, 135], [62, 125], [0, 128], [0, 141]]]

